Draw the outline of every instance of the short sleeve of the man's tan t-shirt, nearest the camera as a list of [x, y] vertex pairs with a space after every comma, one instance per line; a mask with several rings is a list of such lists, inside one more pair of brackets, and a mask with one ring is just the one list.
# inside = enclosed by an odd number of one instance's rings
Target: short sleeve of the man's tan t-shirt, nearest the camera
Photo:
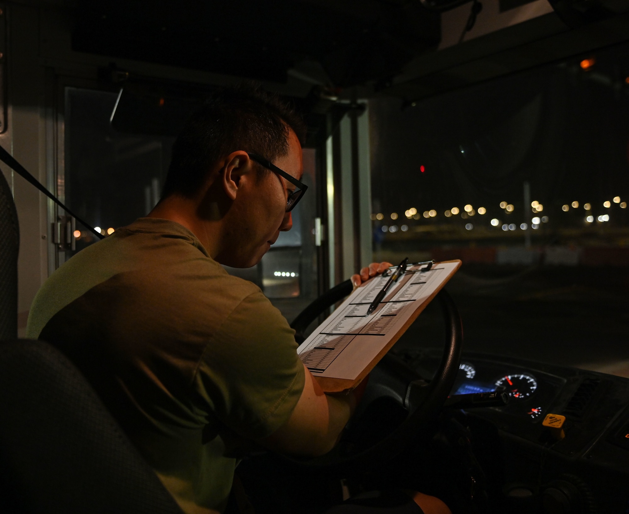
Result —
[[304, 388], [294, 330], [257, 291], [226, 317], [204, 351], [195, 387], [214, 415], [258, 439], [291, 416]]

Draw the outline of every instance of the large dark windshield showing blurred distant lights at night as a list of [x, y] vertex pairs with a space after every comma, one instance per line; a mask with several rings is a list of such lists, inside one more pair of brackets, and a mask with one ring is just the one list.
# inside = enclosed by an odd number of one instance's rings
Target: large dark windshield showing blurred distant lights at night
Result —
[[465, 350], [629, 376], [628, 93], [623, 45], [370, 103], [375, 260], [461, 259]]

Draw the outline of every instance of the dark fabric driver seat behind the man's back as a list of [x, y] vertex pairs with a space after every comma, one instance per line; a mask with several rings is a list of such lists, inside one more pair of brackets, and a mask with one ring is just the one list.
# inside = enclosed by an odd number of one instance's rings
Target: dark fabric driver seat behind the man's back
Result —
[[0, 511], [182, 514], [77, 368], [16, 340], [18, 248], [0, 171]]

